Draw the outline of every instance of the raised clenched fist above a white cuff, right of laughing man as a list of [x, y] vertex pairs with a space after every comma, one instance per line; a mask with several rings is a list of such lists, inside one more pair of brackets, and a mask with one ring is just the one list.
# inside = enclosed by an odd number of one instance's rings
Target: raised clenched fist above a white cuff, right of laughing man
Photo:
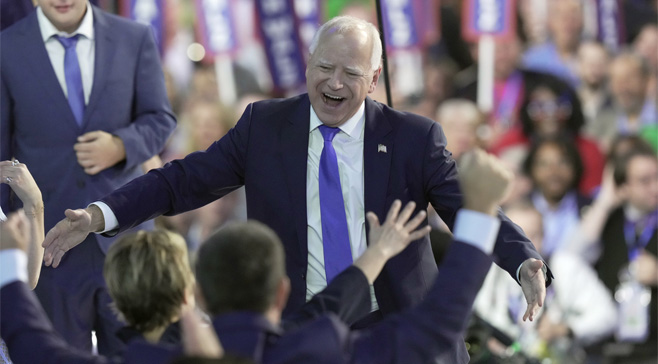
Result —
[[500, 160], [481, 149], [465, 154], [459, 165], [464, 208], [496, 216], [497, 205], [507, 194], [513, 177]]

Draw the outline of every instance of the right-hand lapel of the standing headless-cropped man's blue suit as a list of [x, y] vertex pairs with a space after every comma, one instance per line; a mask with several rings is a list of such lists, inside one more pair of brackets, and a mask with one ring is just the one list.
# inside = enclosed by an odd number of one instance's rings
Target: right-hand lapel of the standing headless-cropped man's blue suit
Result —
[[85, 108], [85, 115], [83, 119], [83, 127], [87, 125], [89, 117], [92, 115], [94, 108], [98, 105], [108, 74], [112, 70], [113, 52], [112, 45], [112, 32], [109, 29], [107, 19], [102, 11], [98, 10], [95, 6], [91, 7], [94, 11], [94, 82], [91, 87], [91, 94], [89, 96], [89, 104]]

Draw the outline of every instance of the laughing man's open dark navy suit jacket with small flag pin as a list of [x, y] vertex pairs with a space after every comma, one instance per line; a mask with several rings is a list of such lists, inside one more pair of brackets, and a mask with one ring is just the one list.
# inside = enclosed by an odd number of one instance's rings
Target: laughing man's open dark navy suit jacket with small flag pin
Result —
[[[462, 198], [441, 126], [369, 98], [365, 103], [365, 211], [383, 221], [395, 199], [403, 204], [415, 201], [417, 211], [432, 203], [452, 227]], [[306, 295], [309, 115], [306, 94], [251, 104], [236, 126], [208, 150], [137, 178], [102, 201], [123, 231], [162, 214], [195, 209], [244, 185], [249, 218], [274, 229], [283, 242], [292, 283], [286, 308], [290, 312], [302, 306]], [[386, 152], [378, 152], [380, 144]], [[498, 264], [515, 275], [528, 257], [541, 258], [523, 232], [502, 218], [495, 255]], [[436, 274], [429, 238], [413, 242], [375, 281], [381, 311], [419, 303]]]

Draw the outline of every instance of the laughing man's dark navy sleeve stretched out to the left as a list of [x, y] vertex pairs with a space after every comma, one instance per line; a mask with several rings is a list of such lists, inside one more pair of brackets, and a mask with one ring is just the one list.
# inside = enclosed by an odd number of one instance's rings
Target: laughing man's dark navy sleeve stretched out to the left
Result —
[[160, 215], [204, 206], [244, 184], [250, 105], [222, 139], [206, 151], [167, 163], [103, 197], [119, 222], [116, 234]]

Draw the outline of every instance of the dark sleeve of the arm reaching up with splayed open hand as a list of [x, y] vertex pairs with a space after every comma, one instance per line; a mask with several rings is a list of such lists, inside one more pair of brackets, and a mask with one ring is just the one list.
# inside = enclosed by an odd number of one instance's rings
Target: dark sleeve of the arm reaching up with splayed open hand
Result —
[[368, 279], [359, 268], [351, 266], [337, 275], [325, 289], [313, 296], [299, 310], [284, 317], [282, 326], [288, 331], [328, 313], [350, 325], [369, 312]]

